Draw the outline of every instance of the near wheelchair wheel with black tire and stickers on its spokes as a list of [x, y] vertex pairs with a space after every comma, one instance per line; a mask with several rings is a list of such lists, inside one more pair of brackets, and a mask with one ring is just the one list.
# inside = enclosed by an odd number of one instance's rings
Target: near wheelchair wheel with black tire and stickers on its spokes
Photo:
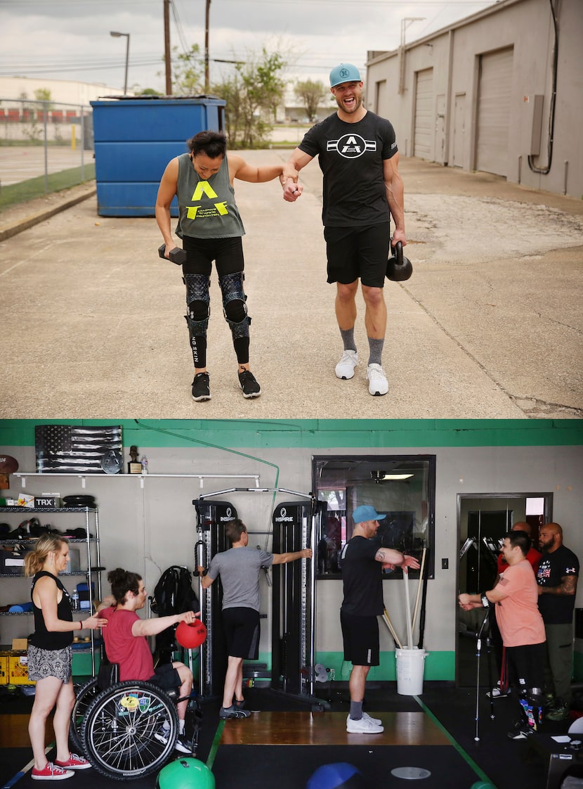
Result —
[[177, 737], [178, 712], [163, 690], [150, 682], [118, 682], [87, 709], [82, 750], [102, 775], [129, 780], [158, 770]]

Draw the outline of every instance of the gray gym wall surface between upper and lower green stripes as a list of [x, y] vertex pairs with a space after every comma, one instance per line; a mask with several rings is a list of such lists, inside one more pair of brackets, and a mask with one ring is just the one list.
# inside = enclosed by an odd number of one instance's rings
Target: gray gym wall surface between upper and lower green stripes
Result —
[[[19, 458], [20, 469], [35, 467], [33, 447], [0, 447], [0, 451]], [[240, 450], [246, 452], [245, 449]], [[240, 474], [258, 475], [259, 484], [273, 488], [276, 469], [251, 458], [243, 458], [224, 451], [197, 447], [192, 449], [140, 447], [149, 458], [150, 477], [140, 486], [139, 477], [87, 477], [85, 492], [96, 496], [102, 539], [102, 563], [108, 568], [122, 566], [143, 575], [147, 589], [152, 592], [159, 575], [173, 563], [193, 567], [196, 541], [195, 511], [192, 499], [200, 492], [214, 492], [230, 487], [253, 487], [254, 481], [205, 478], [202, 489], [198, 478], [155, 477], [165, 474]], [[256, 458], [279, 467], [277, 486], [298, 492], [311, 488], [312, 451], [302, 448], [258, 449], [249, 451]], [[565, 529], [565, 542], [583, 559], [583, 530], [580, 520], [583, 511], [583, 453], [581, 447], [362, 447], [345, 450], [333, 447], [316, 454], [436, 454], [436, 577], [429, 581], [425, 648], [433, 651], [453, 651], [457, 623], [456, 568], [459, 552], [457, 497], [459, 493], [554, 492], [553, 518]], [[20, 490], [20, 481], [11, 476], [11, 492]], [[61, 495], [81, 492], [80, 481], [72, 477], [28, 477], [27, 492], [58, 491]], [[236, 492], [220, 497], [231, 501], [247, 523], [251, 544], [266, 544], [265, 535], [253, 535], [255, 530], [267, 531], [271, 523], [271, 493]], [[278, 494], [277, 502], [293, 500]], [[64, 518], [65, 516], [61, 516]], [[68, 516], [70, 517], [70, 516]], [[2, 514], [2, 520], [17, 523], [21, 516]], [[58, 526], [58, 516], [41, 515], [41, 522]], [[267, 547], [270, 542], [268, 540]], [[447, 558], [449, 569], [441, 570], [441, 559]], [[23, 581], [9, 581], [9, 584]], [[415, 592], [414, 582], [412, 594]], [[6, 585], [0, 600], [5, 601]], [[341, 602], [341, 582], [320, 581], [317, 584], [317, 650], [336, 652], [342, 649], [338, 611]], [[385, 604], [399, 634], [405, 634], [403, 620], [403, 584], [385, 584]], [[577, 593], [577, 604], [583, 604], [583, 586]], [[269, 613], [269, 589], [262, 580], [262, 611]], [[0, 617], [0, 641], [16, 637], [23, 630], [22, 618], [16, 621]], [[10, 629], [10, 630], [9, 630]], [[262, 628], [262, 651], [269, 651], [269, 626]], [[25, 634], [25, 633], [24, 633]], [[393, 642], [381, 630], [381, 649], [392, 650]]]

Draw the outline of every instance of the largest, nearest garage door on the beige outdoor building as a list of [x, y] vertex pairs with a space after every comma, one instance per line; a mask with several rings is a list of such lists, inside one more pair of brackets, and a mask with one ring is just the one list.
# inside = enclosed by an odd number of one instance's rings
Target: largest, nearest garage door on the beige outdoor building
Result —
[[507, 175], [513, 50], [481, 56], [476, 169]]

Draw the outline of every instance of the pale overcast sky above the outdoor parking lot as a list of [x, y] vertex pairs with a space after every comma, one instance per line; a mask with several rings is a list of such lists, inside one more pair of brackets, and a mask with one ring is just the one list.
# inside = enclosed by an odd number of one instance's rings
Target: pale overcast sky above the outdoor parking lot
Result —
[[[399, 46], [492, 6], [496, 0], [212, 0], [210, 79], [261, 50], [283, 52], [289, 79], [326, 81], [339, 62], [364, 65], [367, 50]], [[206, 0], [173, 0], [171, 46], [204, 50]], [[130, 34], [128, 88], [164, 92], [163, 0], [0, 0], [0, 76], [81, 80], [123, 88]]]

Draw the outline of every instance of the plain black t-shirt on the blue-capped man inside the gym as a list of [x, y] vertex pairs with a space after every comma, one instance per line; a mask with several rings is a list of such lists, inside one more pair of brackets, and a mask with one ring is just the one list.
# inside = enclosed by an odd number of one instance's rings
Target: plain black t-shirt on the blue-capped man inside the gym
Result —
[[384, 610], [383, 566], [374, 558], [377, 540], [352, 537], [341, 556], [344, 599], [342, 611], [354, 616], [377, 616]]

